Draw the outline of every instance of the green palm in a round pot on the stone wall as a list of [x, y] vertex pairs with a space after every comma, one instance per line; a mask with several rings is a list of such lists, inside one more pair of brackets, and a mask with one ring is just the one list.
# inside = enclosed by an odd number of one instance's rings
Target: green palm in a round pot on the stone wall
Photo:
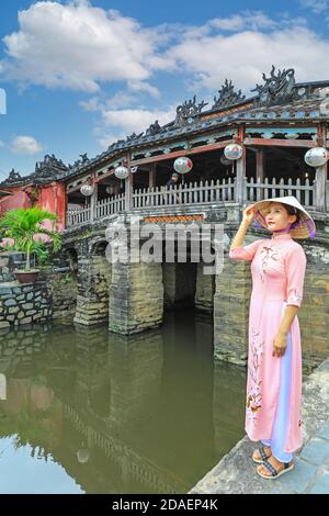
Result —
[[0, 218], [0, 231], [2, 237], [13, 240], [13, 244], [3, 246], [5, 250], [23, 251], [26, 256], [25, 268], [14, 270], [20, 283], [34, 283], [39, 269], [31, 269], [31, 254], [34, 253], [38, 262], [45, 261], [48, 257], [48, 243], [35, 239], [35, 236], [47, 235], [50, 237], [54, 251], [60, 249], [60, 235], [56, 231], [46, 229], [42, 226], [45, 221], [57, 221], [57, 215], [42, 210], [38, 206], [19, 207], [10, 210]]

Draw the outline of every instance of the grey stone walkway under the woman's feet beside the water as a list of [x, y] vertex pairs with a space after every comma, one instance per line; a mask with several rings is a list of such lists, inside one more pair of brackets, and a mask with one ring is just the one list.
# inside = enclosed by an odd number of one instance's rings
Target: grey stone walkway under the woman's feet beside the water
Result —
[[191, 491], [194, 494], [329, 494], [329, 358], [303, 384], [304, 447], [295, 469], [275, 480], [262, 479], [246, 436]]

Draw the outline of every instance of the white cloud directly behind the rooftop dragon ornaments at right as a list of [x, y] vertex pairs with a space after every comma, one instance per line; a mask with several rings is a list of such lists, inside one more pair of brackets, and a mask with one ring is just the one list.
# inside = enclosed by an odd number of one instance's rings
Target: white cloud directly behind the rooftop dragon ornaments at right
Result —
[[189, 37], [169, 52], [194, 78], [195, 89], [218, 89], [228, 78], [250, 94], [256, 82], [262, 82], [262, 72], [269, 75], [272, 64], [276, 70], [295, 68], [297, 81], [328, 78], [329, 42], [300, 25], [270, 33], [242, 31], [228, 36]]

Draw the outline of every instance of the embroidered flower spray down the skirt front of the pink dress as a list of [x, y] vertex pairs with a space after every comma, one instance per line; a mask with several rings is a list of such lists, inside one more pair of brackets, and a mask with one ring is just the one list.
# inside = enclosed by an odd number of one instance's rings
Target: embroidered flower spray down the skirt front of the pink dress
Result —
[[249, 358], [249, 386], [247, 391], [246, 413], [256, 423], [257, 413], [261, 408], [262, 392], [260, 380], [261, 357], [263, 355], [263, 341], [259, 332], [251, 329], [250, 358]]

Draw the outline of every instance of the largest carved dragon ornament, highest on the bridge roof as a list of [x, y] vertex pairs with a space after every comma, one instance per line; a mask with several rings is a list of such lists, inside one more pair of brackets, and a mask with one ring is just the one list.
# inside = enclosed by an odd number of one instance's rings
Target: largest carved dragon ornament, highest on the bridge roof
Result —
[[298, 98], [294, 89], [296, 83], [294, 68], [288, 68], [287, 70], [283, 69], [282, 71], [279, 70], [277, 75], [275, 75], [275, 66], [272, 65], [270, 77], [263, 74], [262, 78], [264, 83], [256, 85], [256, 88], [251, 90], [258, 93], [257, 105], [277, 105]]

